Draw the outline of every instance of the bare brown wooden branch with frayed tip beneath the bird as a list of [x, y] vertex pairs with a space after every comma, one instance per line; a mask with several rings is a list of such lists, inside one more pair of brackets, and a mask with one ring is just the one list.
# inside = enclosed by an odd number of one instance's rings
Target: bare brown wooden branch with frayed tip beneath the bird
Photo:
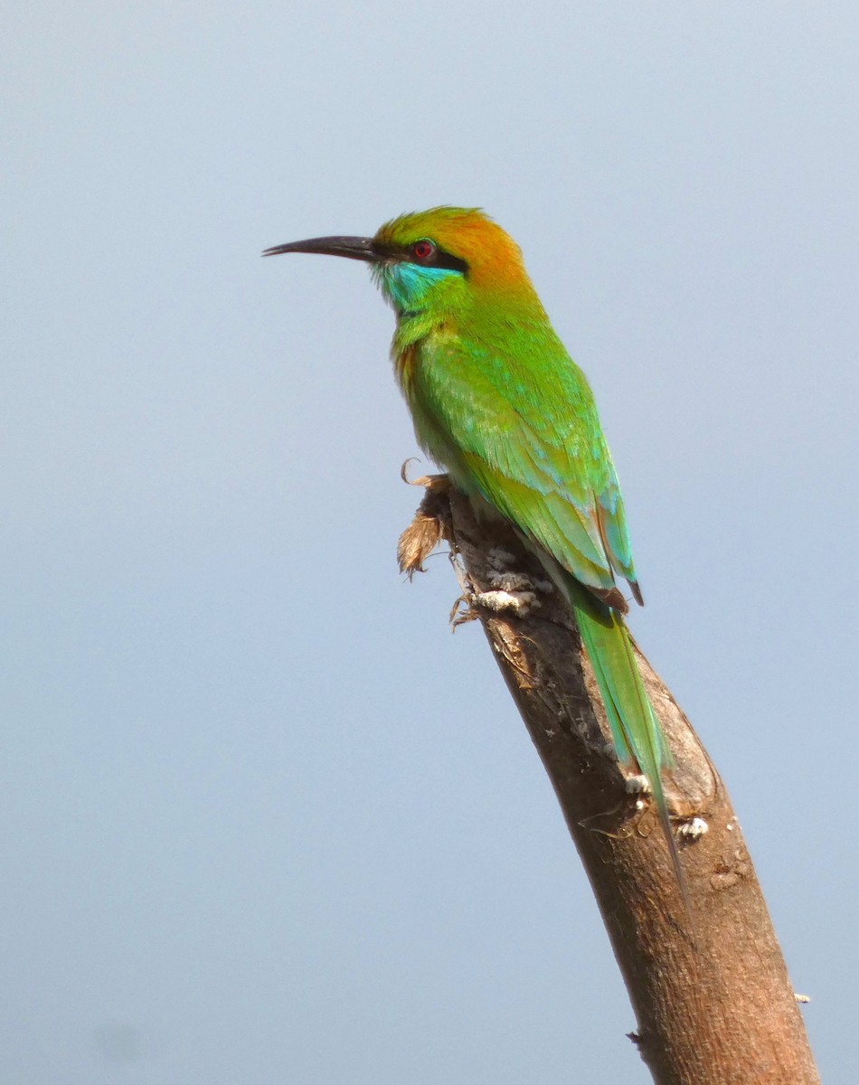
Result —
[[[503, 522], [478, 522], [446, 480], [400, 540], [407, 571], [444, 536], [472, 592], [499, 584], [499, 553], [543, 579]], [[432, 525], [435, 526], [432, 526]], [[489, 601], [498, 603], [497, 597]], [[472, 605], [483, 624], [600, 906], [638, 1020], [630, 1038], [657, 1085], [819, 1083], [799, 1009], [728, 793], [689, 720], [639, 652], [648, 691], [675, 754], [667, 796], [694, 929], [646, 796], [611, 753], [597, 684], [557, 591], [530, 611]], [[638, 651], [638, 650], [637, 650]], [[697, 820], [696, 820], [697, 819]]]

